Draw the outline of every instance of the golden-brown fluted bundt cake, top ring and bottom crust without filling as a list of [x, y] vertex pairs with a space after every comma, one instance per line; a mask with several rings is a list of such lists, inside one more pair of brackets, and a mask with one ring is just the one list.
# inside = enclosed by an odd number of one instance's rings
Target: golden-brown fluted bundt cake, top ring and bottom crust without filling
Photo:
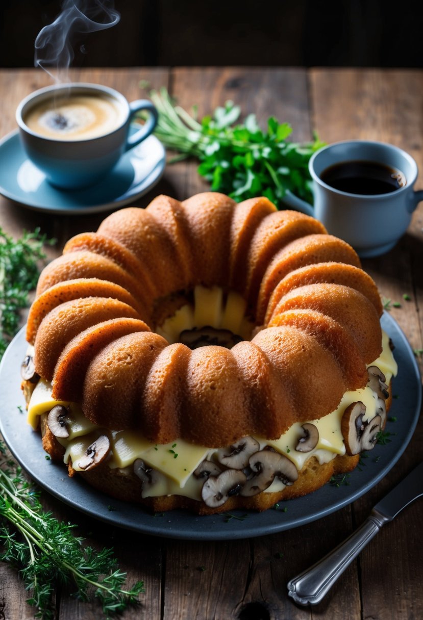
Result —
[[[241, 295], [251, 341], [190, 350], [154, 333], [198, 285]], [[53, 397], [78, 402], [91, 422], [154, 443], [182, 438], [219, 448], [247, 435], [275, 440], [364, 387], [366, 365], [381, 351], [380, 314], [378, 291], [354, 249], [316, 219], [277, 211], [264, 197], [238, 204], [205, 192], [116, 211], [97, 232], [69, 240], [40, 276], [27, 338]], [[57, 456], [45, 422], [42, 432]], [[356, 462], [337, 456], [319, 465], [313, 457], [280, 494], [200, 510], [265, 510]], [[82, 475], [139, 499], [134, 476], [104, 465]], [[143, 503], [198, 508], [180, 497]]]

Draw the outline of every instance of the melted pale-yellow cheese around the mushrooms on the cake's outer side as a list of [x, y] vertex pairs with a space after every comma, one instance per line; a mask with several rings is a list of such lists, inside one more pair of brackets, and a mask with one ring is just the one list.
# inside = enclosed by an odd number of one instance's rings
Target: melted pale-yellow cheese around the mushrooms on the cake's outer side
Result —
[[[385, 374], [386, 383], [390, 384], [391, 378], [398, 371], [396, 362], [390, 349], [389, 336], [383, 332], [381, 355], [370, 366], [377, 366]], [[355, 391], [345, 392], [338, 407], [330, 414], [319, 420], [308, 420], [319, 431], [319, 440], [315, 448], [309, 452], [296, 451], [295, 446], [303, 435], [302, 424], [294, 423], [287, 432], [277, 440], [267, 440], [255, 437], [259, 442], [260, 449], [271, 446], [278, 452], [287, 456], [295, 463], [298, 471], [305, 462], [315, 456], [319, 463], [327, 463], [337, 454], [345, 454], [344, 439], [341, 432], [341, 420], [344, 410], [353, 402], [361, 401], [365, 404], [365, 420], [370, 420], [376, 415], [378, 396], [370, 387], [364, 387]], [[69, 459], [76, 471], [81, 471], [78, 466], [79, 460], [84, 456], [92, 441], [100, 434], [107, 434], [110, 440], [109, 466], [112, 469], [131, 471], [136, 459], [142, 459], [144, 463], [159, 472], [159, 480], [153, 488], [143, 492], [143, 497], [158, 497], [159, 495], [185, 495], [199, 500], [201, 497], [202, 480], [197, 480], [193, 473], [203, 460], [215, 460], [216, 448], [197, 446], [177, 439], [166, 445], [155, 445], [146, 440], [140, 433], [127, 430], [109, 430], [100, 428], [82, 413], [78, 404], [65, 401], [55, 401], [51, 397], [51, 385], [44, 379], [38, 381], [33, 390], [28, 406], [28, 421], [34, 429], [38, 427], [38, 417], [50, 411], [55, 405], [69, 407], [69, 436], [66, 439], [58, 439], [65, 447], [64, 461]], [[222, 446], [224, 447], [224, 446]], [[275, 480], [267, 492], [282, 490], [284, 487], [280, 480]], [[144, 495], [145, 493], [145, 495]]]

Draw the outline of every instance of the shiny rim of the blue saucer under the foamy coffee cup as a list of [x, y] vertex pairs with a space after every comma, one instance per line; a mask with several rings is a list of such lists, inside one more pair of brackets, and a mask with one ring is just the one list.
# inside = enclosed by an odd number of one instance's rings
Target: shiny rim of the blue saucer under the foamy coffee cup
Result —
[[[13, 139], [16, 139], [16, 138], [17, 138], [17, 141], [19, 142], [19, 129], [9, 131], [9, 133], [3, 136], [0, 139], [0, 152], [4, 144], [9, 143]], [[24, 197], [20, 197], [16, 193], [10, 192], [6, 188], [4, 188], [1, 184], [0, 184], [0, 195], [2, 195], [4, 198], [7, 198], [7, 200], [14, 201], [14, 203], [16, 203], [17, 205], [23, 206], [25, 208], [29, 208], [32, 211], [38, 211], [40, 213], [50, 213], [52, 215], [70, 215], [70, 216], [91, 215], [92, 213], [103, 213], [104, 211], [111, 211], [111, 210], [118, 209], [122, 206], [128, 205], [129, 203], [135, 200], [138, 200], [138, 198], [141, 198], [143, 195], [149, 192], [149, 190], [151, 190], [156, 184], [158, 184], [159, 180], [163, 177], [164, 170], [166, 168], [166, 149], [164, 148], [161, 141], [158, 138], [156, 138], [156, 136], [150, 135], [148, 136], [148, 138], [153, 138], [154, 141], [156, 141], [156, 143], [158, 143], [159, 147], [161, 148], [162, 154], [159, 159], [159, 162], [158, 164], [156, 164], [156, 166], [154, 166], [153, 170], [151, 170], [151, 172], [149, 172], [149, 174], [140, 182], [144, 184], [147, 181], [147, 185], [145, 185], [145, 187], [143, 187], [143, 189], [140, 190], [139, 192], [135, 192], [133, 194], [131, 193], [131, 195], [127, 195], [125, 198], [122, 198], [121, 200], [115, 200], [112, 202], [99, 203], [98, 205], [89, 205], [89, 206], [63, 206], [60, 208], [58, 208], [55, 205], [52, 205], [51, 207], [41, 206], [41, 205], [35, 205], [30, 200], [24, 200]], [[124, 153], [123, 156], [125, 154], [126, 153]], [[29, 158], [27, 157], [26, 159], [29, 159]], [[148, 181], [150, 177], [151, 177], [151, 180]]]

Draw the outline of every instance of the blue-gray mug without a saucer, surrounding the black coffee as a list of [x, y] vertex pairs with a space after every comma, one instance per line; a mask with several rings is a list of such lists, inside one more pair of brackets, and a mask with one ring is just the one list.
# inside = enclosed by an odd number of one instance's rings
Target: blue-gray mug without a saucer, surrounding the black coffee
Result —
[[[405, 183], [390, 193], [350, 193], [322, 180], [324, 172], [343, 162], [376, 162], [401, 171]], [[412, 212], [423, 200], [423, 191], [413, 189], [417, 164], [392, 144], [347, 140], [329, 144], [310, 158], [314, 207], [287, 193], [283, 201], [293, 209], [319, 219], [327, 231], [347, 241], [362, 258], [385, 254], [406, 232]]]

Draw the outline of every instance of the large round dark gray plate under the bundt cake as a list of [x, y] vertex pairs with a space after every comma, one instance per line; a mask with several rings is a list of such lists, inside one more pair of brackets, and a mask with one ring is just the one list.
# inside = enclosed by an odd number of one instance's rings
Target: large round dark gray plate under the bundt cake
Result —
[[[180, 510], [154, 516], [140, 507], [96, 492], [78, 476], [68, 478], [64, 466], [44, 458], [40, 435], [30, 429], [25, 414], [18, 409], [18, 405], [24, 404], [19, 387], [20, 363], [27, 346], [24, 330], [7, 348], [0, 365], [0, 431], [17, 461], [38, 484], [73, 508], [114, 526], [143, 534], [192, 540], [252, 538], [295, 528], [329, 515], [365, 494], [390, 471], [411, 440], [421, 407], [419, 369], [406, 337], [389, 314], [382, 317], [382, 325], [393, 339], [399, 367], [393, 383], [393, 393], [398, 398], [394, 399], [390, 410], [390, 417], [397, 420], [388, 422], [387, 426], [387, 430], [396, 433], [391, 443], [376, 445], [368, 453], [361, 471], [357, 468], [350, 474], [348, 486], [326, 484], [313, 494], [284, 502], [278, 510], [249, 512], [246, 518], [243, 518], [246, 513], [234, 511], [229, 520], [227, 515], [200, 517]], [[111, 511], [110, 506], [114, 510]]]

